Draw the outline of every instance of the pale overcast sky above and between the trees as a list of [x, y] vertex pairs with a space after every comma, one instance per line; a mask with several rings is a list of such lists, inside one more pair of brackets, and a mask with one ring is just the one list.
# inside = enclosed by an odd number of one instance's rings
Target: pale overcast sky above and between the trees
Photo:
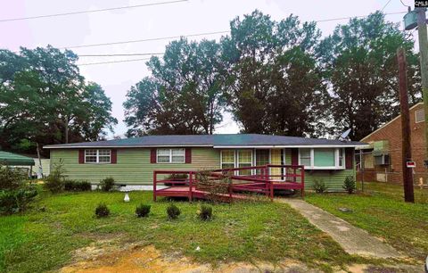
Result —
[[[177, 37], [198, 33], [227, 31], [229, 22], [236, 16], [243, 17], [255, 9], [268, 14], [272, 19], [281, 21], [291, 13], [298, 15], [300, 21], [322, 21], [343, 17], [367, 15], [376, 10], [383, 12], [406, 12], [399, 0], [1, 0], [0, 1], [0, 48], [12, 51], [20, 46], [35, 48], [53, 45], [69, 48], [76, 54], [146, 54], [161, 53], [172, 39], [121, 45], [93, 45], [129, 40], [150, 39], [156, 37]], [[413, 0], [402, 0], [413, 7]], [[164, 4], [161, 4], [164, 3]], [[45, 17], [39, 19], [3, 21], [39, 15], [81, 12], [112, 7], [145, 5], [107, 12], [85, 12], [67, 16]], [[387, 20], [399, 22], [403, 29], [404, 14], [387, 15]], [[337, 24], [348, 20], [323, 21], [317, 26], [323, 36], [333, 32]], [[225, 34], [189, 37], [199, 41], [202, 38], [218, 40]], [[112, 115], [119, 120], [114, 128], [114, 136], [123, 136], [127, 126], [123, 122], [122, 103], [126, 100], [129, 87], [135, 85], [150, 72], [146, 61], [116, 62], [140, 59], [146, 56], [116, 57], [80, 57], [78, 60], [81, 74], [87, 81], [95, 81], [105, 90], [113, 103]], [[86, 64], [86, 65], [85, 65]], [[229, 113], [216, 133], [237, 133], [239, 127]], [[110, 137], [113, 134], [109, 135]]]

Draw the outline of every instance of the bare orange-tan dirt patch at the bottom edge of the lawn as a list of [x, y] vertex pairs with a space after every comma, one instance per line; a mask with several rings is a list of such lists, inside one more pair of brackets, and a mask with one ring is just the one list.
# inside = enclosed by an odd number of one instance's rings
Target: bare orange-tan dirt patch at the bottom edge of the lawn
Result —
[[318, 272], [299, 261], [284, 261], [277, 265], [228, 263], [213, 268], [210, 264], [195, 263], [177, 253], [164, 255], [152, 245], [121, 244], [119, 247], [114, 241], [106, 239], [78, 249], [74, 254], [75, 262], [62, 268], [60, 272]]

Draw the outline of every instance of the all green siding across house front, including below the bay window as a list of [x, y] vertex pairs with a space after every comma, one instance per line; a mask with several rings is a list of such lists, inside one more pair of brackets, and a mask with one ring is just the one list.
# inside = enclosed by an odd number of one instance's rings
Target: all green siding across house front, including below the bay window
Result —
[[[118, 149], [116, 164], [79, 164], [78, 150], [51, 150], [51, 170], [55, 163], [64, 162], [66, 175], [70, 179], [85, 179], [99, 183], [101, 179], [113, 177], [119, 184], [152, 185], [153, 170], [212, 170], [220, 169], [220, 150], [192, 148], [191, 164], [150, 163], [150, 149]], [[292, 163], [291, 149], [285, 149], [285, 164]], [[330, 191], [342, 191], [347, 176], [355, 178], [355, 170], [306, 170], [305, 188], [312, 189], [314, 179], [323, 179]]]

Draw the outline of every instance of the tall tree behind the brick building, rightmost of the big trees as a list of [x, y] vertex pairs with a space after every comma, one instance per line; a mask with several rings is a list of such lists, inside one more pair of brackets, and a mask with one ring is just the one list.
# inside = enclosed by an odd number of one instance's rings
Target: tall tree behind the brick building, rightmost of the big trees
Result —
[[417, 56], [413, 41], [381, 12], [339, 25], [317, 49], [330, 87], [330, 112], [336, 131], [351, 128], [361, 139], [399, 114], [398, 64], [402, 46], [408, 62], [411, 103], [420, 100]]

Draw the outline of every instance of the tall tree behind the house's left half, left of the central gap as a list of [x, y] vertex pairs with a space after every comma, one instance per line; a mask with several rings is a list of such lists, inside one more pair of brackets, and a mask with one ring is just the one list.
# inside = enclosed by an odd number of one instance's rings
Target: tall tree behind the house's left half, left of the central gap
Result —
[[163, 60], [147, 62], [152, 76], [128, 91], [128, 136], [212, 134], [221, 121], [223, 65], [215, 41], [171, 42]]

